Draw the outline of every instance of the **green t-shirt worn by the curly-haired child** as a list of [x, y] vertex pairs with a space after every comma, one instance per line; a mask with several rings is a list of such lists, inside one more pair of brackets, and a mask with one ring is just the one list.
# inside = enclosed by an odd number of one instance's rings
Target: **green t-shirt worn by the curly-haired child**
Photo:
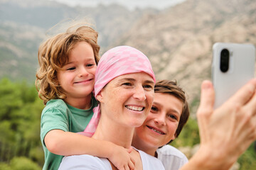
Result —
[[58, 169], [63, 156], [48, 151], [44, 137], [50, 130], [63, 130], [65, 132], [82, 132], [90, 122], [97, 101], [92, 97], [92, 106], [88, 110], [74, 108], [61, 99], [52, 99], [46, 103], [41, 115], [41, 142], [45, 153], [43, 169]]

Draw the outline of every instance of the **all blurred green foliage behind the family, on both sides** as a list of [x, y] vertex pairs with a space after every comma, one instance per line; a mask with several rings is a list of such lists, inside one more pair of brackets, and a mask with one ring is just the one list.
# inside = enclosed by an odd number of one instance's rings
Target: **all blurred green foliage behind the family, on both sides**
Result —
[[[36, 87], [28, 85], [26, 81], [1, 79], [0, 101], [0, 169], [41, 169], [44, 155], [40, 141], [40, 120], [44, 106], [38, 98]], [[193, 147], [199, 142], [197, 121], [191, 117], [171, 145]], [[240, 170], [255, 169], [256, 153], [253, 145], [238, 162]]]

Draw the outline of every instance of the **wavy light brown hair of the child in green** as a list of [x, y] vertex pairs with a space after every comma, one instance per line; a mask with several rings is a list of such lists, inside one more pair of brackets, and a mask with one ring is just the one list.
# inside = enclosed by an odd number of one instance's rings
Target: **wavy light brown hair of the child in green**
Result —
[[97, 45], [98, 33], [89, 26], [68, 28], [43, 42], [38, 49], [39, 69], [36, 72], [38, 96], [46, 104], [50, 99], [65, 98], [58, 85], [57, 72], [68, 63], [68, 55], [78, 42], [87, 42], [92, 46], [96, 64], [100, 60], [100, 46]]

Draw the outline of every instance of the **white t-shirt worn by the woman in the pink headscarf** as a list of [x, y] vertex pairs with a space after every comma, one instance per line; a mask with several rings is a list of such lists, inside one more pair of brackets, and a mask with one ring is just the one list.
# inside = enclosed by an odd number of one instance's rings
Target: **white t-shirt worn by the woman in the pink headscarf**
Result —
[[[143, 169], [146, 170], [164, 170], [164, 166], [159, 159], [152, 157], [140, 150], [139, 154], [142, 159]], [[74, 169], [74, 170], [111, 170], [111, 164], [106, 158], [93, 157], [88, 154], [73, 155], [64, 157], [60, 163], [59, 170]]]

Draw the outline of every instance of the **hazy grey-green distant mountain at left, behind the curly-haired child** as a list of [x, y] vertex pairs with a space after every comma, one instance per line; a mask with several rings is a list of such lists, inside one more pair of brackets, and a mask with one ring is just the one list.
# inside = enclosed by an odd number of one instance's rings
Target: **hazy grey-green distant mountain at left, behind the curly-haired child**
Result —
[[48, 0], [0, 0], [0, 78], [33, 82], [38, 67], [38, 47], [46, 35], [63, 26], [60, 23], [81, 18], [92, 23], [99, 32], [100, 46], [104, 51], [146, 13], [158, 11], [136, 9], [131, 12], [114, 4], [85, 8]]

